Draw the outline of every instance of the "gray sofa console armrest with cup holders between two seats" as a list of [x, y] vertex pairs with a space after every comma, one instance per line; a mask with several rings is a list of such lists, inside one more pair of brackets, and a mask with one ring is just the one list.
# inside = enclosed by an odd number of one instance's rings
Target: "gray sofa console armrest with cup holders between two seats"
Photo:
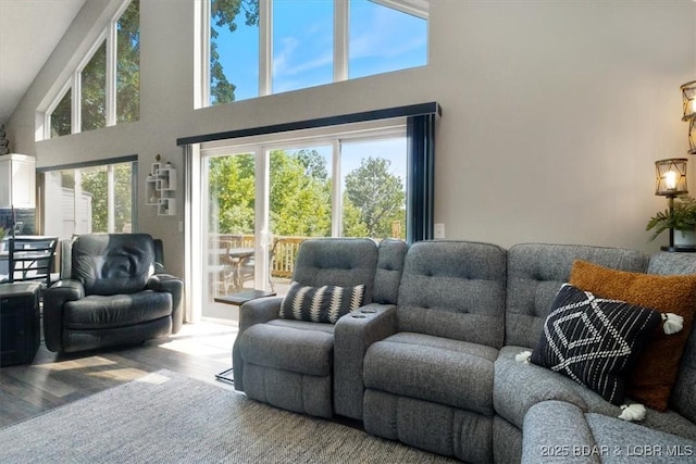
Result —
[[368, 348], [396, 334], [396, 305], [366, 304], [336, 323], [334, 330], [334, 411], [362, 419], [362, 365]]

